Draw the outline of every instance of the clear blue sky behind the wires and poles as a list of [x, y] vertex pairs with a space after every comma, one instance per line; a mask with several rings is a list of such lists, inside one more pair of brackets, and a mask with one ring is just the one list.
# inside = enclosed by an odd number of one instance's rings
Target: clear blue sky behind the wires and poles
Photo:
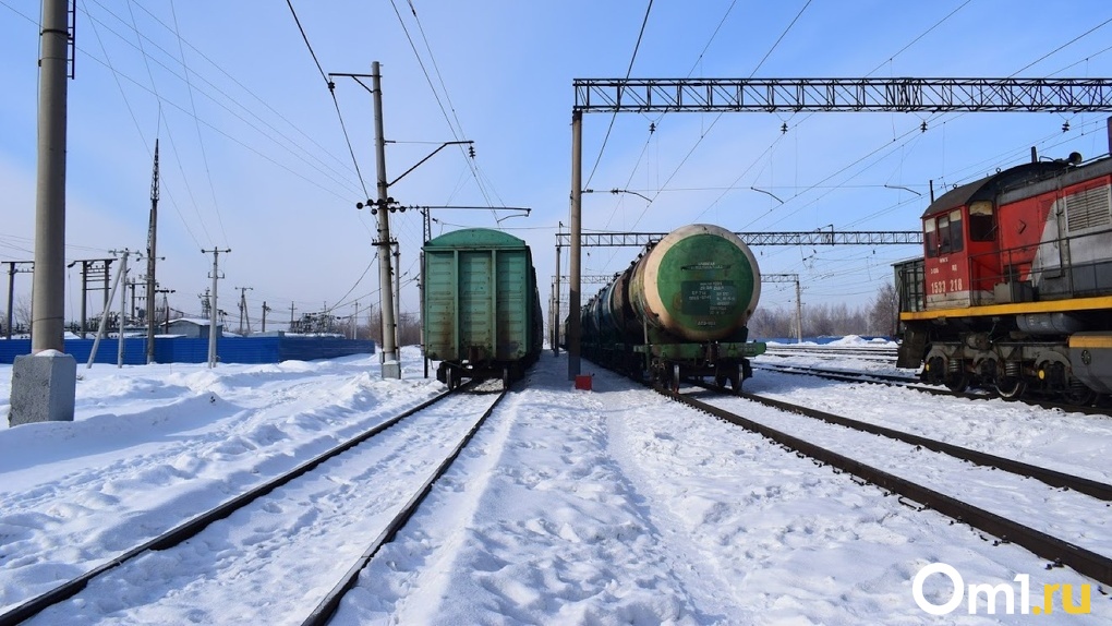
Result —
[[[271, 320], [288, 319], [291, 304], [297, 315], [337, 302], [337, 315], [350, 315], [356, 299], [360, 310], [377, 307], [375, 225], [355, 207], [375, 196], [371, 99], [354, 80], [338, 78], [334, 103], [289, 7], [210, 0], [77, 6], [67, 257], [145, 248], [158, 138], [159, 256], [166, 257], [158, 277], [176, 289], [172, 306], [200, 310], [197, 295], [210, 285], [211, 266], [200, 250], [219, 247], [231, 248], [221, 256], [220, 294], [232, 318], [236, 287], [252, 288], [247, 300], [255, 320], [264, 301], [275, 309]], [[533, 209], [500, 225], [533, 246], [545, 299], [555, 231], [568, 222], [575, 78], [627, 71], [636, 78], [1112, 77], [1112, 6], [1096, 0], [292, 6], [325, 72], [369, 73], [373, 61], [381, 63], [386, 136], [394, 141], [388, 179], [440, 142], [475, 141], [474, 161], [449, 147], [390, 195], [409, 206]], [[31, 0], [0, 0], [0, 261], [32, 258], [39, 10]], [[1030, 159], [1032, 146], [1049, 157], [1105, 153], [1106, 117], [588, 115], [585, 187], [655, 200], [586, 195], [584, 228], [667, 231], [705, 221], [743, 231], [914, 230], [930, 181], [941, 189], [979, 178]], [[924, 121], [927, 130], [920, 132]], [[433, 232], [493, 227], [507, 215], [439, 210]], [[401, 247], [403, 310], [416, 311], [420, 217], [395, 215], [393, 227]], [[804, 306], [860, 306], [890, 280], [893, 261], [917, 250], [755, 252], [765, 272], [801, 275]], [[635, 255], [585, 248], [584, 274], [618, 271]], [[78, 317], [79, 287], [73, 272], [68, 318]], [[17, 294], [29, 289], [29, 279], [17, 281]], [[585, 296], [595, 289], [585, 286]], [[793, 299], [794, 286], [771, 284], [762, 306], [790, 307]]]

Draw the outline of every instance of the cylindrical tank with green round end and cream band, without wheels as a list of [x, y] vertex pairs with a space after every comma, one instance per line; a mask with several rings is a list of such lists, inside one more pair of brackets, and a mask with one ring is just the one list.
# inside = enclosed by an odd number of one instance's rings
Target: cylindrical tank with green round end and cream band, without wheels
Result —
[[629, 297], [647, 325], [689, 341], [714, 341], [748, 322], [761, 299], [761, 271], [733, 232], [688, 225], [637, 262]]

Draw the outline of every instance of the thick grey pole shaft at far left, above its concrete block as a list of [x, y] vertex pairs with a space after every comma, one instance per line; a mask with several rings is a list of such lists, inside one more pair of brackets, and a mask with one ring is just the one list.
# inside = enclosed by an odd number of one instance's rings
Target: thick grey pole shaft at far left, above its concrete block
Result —
[[43, 0], [31, 354], [64, 351], [68, 0]]

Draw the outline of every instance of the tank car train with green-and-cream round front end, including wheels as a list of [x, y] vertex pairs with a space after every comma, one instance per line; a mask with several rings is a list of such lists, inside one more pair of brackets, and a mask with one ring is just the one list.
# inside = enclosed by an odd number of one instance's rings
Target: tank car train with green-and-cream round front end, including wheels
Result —
[[684, 378], [712, 377], [739, 393], [761, 275], [748, 247], [711, 225], [689, 225], [646, 250], [582, 311], [580, 351], [603, 367], [678, 390]]

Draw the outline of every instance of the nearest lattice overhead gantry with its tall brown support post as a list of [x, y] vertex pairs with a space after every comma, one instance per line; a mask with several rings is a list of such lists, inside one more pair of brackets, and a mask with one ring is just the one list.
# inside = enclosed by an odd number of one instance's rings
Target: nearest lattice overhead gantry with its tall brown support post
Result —
[[579, 374], [583, 115], [644, 112], [1108, 112], [1109, 78], [575, 79], [568, 379]]

